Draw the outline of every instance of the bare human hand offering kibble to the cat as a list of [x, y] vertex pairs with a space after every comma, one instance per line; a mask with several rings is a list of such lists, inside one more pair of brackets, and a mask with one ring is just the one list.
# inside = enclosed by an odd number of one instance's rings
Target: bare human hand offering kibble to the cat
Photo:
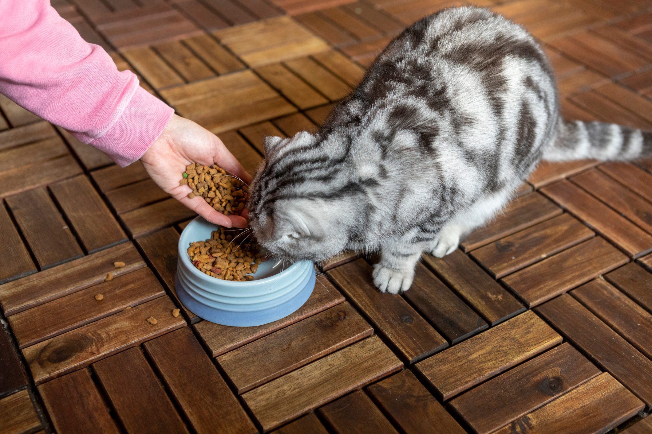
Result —
[[[206, 203], [201, 197], [188, 198], [192, 190], [188, 185], [179, 185], [181, 174], [190, 163], [213, 165], [239, 177], [245, 183], [251, 176], [233, 157], [224, 143], [213, 133], [192, 120], [172, 115], [168, 126], [140, 157], [143, 167], [152, 180], [171, 197], [195, 211], [207, 221], [230, 228], [244, 228], [246, 219], [239, 215], [224, 215]], [[246, 217], [246, 213], [244, 213]]]

